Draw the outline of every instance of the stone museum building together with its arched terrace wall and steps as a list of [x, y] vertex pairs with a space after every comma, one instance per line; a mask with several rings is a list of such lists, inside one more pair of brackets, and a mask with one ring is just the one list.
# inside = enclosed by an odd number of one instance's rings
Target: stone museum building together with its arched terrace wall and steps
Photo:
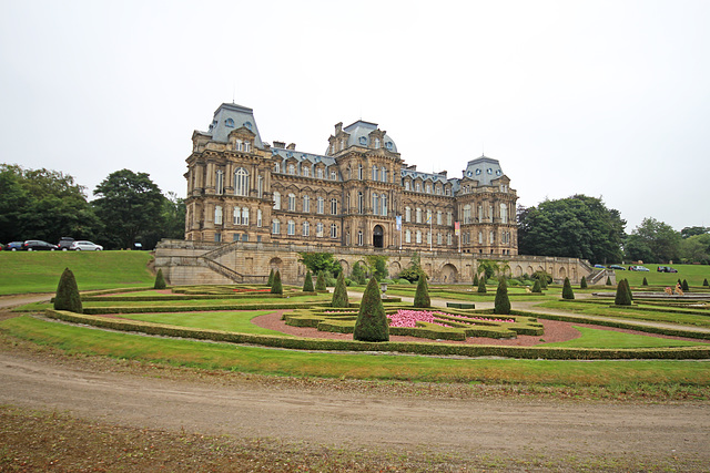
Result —
[[220, 105], [192, 135], [185, 240], [158, 248], [171, 284], [258, 282], [272, 268], [297, 284], [300, 251], [333, 253], [346, 275], [376, 251], [390, 277], [417, 251], [435, 282], [473, 280], [481, 258], [508, 261], [514, 276], [591, 271], [575, 258], [518, 256], [517, 194], [498, 160], [473, 158], [459, 175], [420, 172], [362, 120], [324, 138], [323, 154], [266, 142], [252, 109]]

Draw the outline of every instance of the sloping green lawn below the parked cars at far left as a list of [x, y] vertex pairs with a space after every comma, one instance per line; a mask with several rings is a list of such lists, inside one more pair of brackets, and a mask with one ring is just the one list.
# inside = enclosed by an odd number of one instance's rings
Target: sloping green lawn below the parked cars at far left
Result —
[[152, 286], [148, 251], [0, 251], [0, 295], [54, 292], [69, 268], [79, 290]]

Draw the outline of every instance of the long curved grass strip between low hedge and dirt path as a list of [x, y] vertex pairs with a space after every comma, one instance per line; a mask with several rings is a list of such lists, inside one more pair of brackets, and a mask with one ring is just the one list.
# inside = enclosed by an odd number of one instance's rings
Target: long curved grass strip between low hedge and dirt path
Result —
[[0, 332], [69, 353], [263, 374], [423, 382], [577, 387], [710, 387], [703, 361], [547, 361], [325, 353], [204, 343], [94, 330], [16, 317]]

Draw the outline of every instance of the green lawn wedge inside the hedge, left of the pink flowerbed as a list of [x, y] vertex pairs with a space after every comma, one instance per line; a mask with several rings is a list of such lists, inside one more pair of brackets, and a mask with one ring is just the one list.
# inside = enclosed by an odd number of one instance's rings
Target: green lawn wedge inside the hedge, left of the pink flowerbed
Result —
[[197, 329], [224, 330], [240, 333], [278, 335], [291, 337], [276, 330], [268, 330], [252, 323], [252, 319], [265, 316], [271, 310], [239, 310], [232, 312], [178, 312], [178, 313], [126, 313], [124, 319], [144, 322], [166, 323]]

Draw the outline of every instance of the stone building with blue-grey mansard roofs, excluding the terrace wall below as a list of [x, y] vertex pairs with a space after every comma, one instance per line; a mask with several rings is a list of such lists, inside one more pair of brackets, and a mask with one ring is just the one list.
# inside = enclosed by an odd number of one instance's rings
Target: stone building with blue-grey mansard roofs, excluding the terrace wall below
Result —
[[362, 120], [337, 123], [324, 145], [318, 154], [267, 143], [252, 109], [220, 105], [192, 135], [185, 239], [518, 254], [517, 195], [497, 160], [462, 163], [460, 175], [420, 172]]

